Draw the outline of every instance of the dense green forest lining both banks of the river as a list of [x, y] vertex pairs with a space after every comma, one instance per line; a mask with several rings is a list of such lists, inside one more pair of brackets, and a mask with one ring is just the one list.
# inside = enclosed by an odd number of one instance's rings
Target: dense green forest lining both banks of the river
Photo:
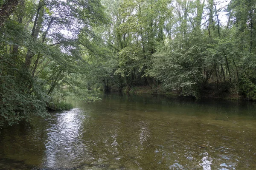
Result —
[[0, 126], [90, 90], [256, 100], [256, 0], [1, 0]]

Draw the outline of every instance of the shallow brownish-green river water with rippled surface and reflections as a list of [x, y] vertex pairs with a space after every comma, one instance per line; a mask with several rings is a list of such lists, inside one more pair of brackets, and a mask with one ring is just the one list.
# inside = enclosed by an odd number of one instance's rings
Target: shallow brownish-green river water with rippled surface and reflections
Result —
[[102, 94], [0, 130], [0, 169], [256, 170], [256, 104]]

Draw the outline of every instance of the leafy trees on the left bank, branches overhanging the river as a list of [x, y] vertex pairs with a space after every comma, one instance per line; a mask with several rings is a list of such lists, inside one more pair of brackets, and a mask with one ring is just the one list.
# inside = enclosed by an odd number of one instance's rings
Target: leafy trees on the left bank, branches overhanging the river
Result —
[[83, 81], [88, 63], [82, 51], [90, 48], [83, 40], [93, 28], [108, 22], [100, 1], [17, 2], [0, 16], [0, 126], [48, 116], [47, 104], [64, 96], [63, 88], [83, 101], [98, 100]]

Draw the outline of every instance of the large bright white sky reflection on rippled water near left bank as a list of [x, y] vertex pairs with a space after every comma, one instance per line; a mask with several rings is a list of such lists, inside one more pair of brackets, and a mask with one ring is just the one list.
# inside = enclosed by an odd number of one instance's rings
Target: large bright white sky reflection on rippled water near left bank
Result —
[[55, 115], [56, 122], [49, 120], [50, 127], [46, 129], [45, 141], [46, 167], [68, 167], [69, 161], [78, 161], [76, 156], [84, 152], [79, 136], [83, 133], [81, 124], [86, 116], [79, 113], [81, 110], [72, 109]]

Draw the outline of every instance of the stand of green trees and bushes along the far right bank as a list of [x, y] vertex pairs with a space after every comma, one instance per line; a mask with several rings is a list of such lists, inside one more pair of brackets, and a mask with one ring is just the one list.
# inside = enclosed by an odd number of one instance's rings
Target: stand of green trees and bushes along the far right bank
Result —
[[92, 87], [160, 85], [196, 98], [225, 92], [255, 100], [254, 0], [102, 2], [111, 23], [93, 37], [103, 55], [87, 57]]

